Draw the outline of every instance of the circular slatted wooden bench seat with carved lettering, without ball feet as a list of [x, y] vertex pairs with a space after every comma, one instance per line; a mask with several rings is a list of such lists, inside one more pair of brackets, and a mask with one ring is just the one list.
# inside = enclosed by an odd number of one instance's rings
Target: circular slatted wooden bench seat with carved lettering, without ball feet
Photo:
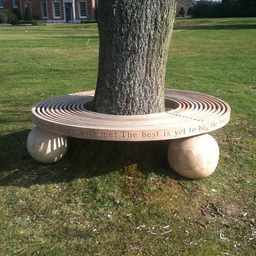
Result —
[[230, 120], [227, 103], [197, 92], [165, 89], [165, 112], [137, 116], [92, 112], [93, 95], [87, 91], [46, 99], [32, 108], [32, 120], [52, 133], [116, 141], [190, 137], [217, 130]]

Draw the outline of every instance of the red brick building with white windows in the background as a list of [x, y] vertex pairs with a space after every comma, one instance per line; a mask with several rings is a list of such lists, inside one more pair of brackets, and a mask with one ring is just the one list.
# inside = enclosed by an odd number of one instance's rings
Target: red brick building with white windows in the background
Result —
[[0, 0], [0, 10], [17, 10], [24, 19], [25, 8], [31, 8], [35, 19], [48, 23], [80, 22], [96, 19], [96, 0]]

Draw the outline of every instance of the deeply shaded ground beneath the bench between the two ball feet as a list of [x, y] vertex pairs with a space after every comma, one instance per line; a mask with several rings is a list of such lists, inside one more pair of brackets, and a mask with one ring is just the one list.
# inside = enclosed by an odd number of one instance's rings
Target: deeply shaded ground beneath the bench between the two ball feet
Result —
[[167, 162], [168, 140], [157, 142], [106, 142], [102, 140], [70, 139], [69, 157], [88, 176], [111, 171], [127, 175], [170, 171]]

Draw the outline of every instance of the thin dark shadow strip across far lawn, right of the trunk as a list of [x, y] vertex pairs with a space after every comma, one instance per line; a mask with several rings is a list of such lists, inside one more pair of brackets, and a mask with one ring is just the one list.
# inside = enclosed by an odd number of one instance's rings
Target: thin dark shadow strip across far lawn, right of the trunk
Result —
[[256, 24], [233, 24], [233, 25], [201, 25], [186, 26], [177, 28], [183, 30], [238, 30], [238, 29], [256, 29]]

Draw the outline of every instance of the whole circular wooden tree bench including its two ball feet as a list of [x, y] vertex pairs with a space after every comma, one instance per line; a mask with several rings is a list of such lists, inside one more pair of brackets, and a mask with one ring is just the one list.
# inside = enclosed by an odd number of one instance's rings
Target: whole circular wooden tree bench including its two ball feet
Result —
[[[174, 171], [187, 178], [207, 177], [214, 171], [218, 145], [205, 133], [223, 127], [230, 120], [230, 106], [223, 100], [197, 92], [165, 89], [165, 112], [118, 116], [90, 111], [94, 93], [46, 99], [32, 108], [37, 135], [34, 129], [29, 134], [28, 150], [33, 158], [42, 163], [60, 160], [68, 146], [66, 137], [114, 141], [171, 139], [168, 159]], [[49, 134], [63, 139], [65, 146], [60, 146], [63, 151], [51, 146], [42, 151], [45, 145], [52, 145]], [[36, 143], [39, 138], [40, 143]]]

